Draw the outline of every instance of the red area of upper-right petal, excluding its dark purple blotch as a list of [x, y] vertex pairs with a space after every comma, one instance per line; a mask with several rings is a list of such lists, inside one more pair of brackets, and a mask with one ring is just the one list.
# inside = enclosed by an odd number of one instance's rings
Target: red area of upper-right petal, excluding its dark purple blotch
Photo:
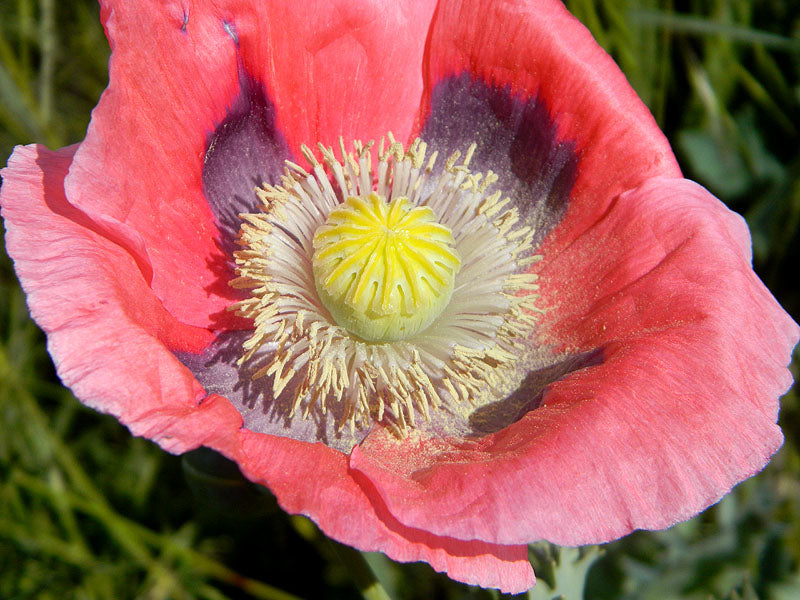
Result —
[[[666, 138], [619, 67], [558, 0], [441, 2], [425, 60], [423, 132], [431, 111], [436, 115], [437, 86], [465, 72], [518, 101], [545, 105], [556, 140], [574, 144], [580, 157], [568, 217], [591, 222], [646, 178], [680, 176]], [[452, 127], [471, 129], [480, 152], [480, 122], [462, 117], [456, 114]]]

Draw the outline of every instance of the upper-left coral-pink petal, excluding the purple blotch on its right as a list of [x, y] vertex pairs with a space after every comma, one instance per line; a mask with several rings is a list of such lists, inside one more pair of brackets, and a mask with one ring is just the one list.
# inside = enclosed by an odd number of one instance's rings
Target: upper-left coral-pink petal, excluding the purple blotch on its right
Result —
[[65, 187], [70, 203], [137, 241], [171, 314], [224, 326], [234, 295], [201, 174], [206, 138], [238, 93], [237, 58], [213, 8], [193, 5], [185, 28], [184, 14], [177, 2], [103, 5], [110, 84]]

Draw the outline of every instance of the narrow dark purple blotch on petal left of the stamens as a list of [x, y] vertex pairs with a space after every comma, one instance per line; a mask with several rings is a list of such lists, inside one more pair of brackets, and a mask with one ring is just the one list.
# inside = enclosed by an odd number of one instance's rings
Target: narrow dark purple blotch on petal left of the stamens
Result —
[[275, 127], [275, 106], [264, 87], [244, 71], [240, 92], [217, 128], [208, 135], [203, 161], [203, 193], [217, 220], [222, 249], [229, 256], [242, 220], [255, 212], [255, 188], [277, 183], [290, 158], [286, 140]]

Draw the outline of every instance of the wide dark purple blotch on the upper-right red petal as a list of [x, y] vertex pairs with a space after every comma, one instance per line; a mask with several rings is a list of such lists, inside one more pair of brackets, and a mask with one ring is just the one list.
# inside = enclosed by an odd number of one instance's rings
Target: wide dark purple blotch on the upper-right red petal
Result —
[[420, 133], [429, 151], [447, 158], [477, 143], [472, 171], [493, 171], [493, 189], [512, 199], [535, 242], [563, 217], [578, 168], [571, 141], [559, 140], [547, 106], [536, 97], [513, 94], [468, 73], [440, 81], [431, 94], [431, 113]]

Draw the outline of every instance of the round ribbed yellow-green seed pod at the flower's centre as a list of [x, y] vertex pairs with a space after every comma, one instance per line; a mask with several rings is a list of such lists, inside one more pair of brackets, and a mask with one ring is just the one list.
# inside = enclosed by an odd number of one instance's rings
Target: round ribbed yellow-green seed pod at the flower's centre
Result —
[[375, 192], [349, 197], [314, 233], [320, 301], [336, 323], [368, 342], [427, 328], [453, 293], [461, 267], [450, 230], [427, 206]]

